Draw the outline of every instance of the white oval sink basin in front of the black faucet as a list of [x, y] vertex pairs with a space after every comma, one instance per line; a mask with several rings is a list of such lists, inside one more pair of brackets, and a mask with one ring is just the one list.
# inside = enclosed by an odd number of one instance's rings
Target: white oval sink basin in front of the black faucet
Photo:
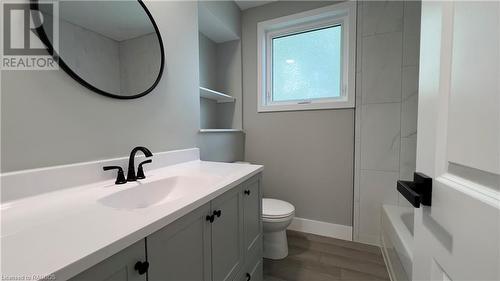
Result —
[[[140, 209], [174, 201], [200, 191], [217, 177], [173, 176], [158, 181], [140, 183], [99, 199], [99, 203], [116, 209]], [[117, 186], [119, 188], [119, 186]]]

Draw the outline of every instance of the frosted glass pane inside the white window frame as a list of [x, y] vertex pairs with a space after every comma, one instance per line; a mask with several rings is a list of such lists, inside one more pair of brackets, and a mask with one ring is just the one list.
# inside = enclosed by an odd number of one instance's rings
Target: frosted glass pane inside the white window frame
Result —
[[272, 39], [272, 102], [338, 98], [342, 26]]

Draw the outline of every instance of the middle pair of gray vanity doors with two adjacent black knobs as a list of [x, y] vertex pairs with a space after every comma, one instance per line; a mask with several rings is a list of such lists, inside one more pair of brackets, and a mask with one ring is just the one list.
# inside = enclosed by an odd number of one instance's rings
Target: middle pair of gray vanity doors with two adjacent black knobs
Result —
[[150, 235], [148, 280], [235, 280], [244, 258], [242, 202], [238, 186]]

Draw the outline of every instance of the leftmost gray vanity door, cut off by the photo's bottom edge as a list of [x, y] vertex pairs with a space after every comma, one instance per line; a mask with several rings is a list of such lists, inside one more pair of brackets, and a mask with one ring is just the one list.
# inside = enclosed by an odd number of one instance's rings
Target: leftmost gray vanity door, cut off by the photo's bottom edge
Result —
[[146, 261], [144, 239], [85, 270], [71, 281], [146, 281], [146, 274], [139, 274], [134, 266]]

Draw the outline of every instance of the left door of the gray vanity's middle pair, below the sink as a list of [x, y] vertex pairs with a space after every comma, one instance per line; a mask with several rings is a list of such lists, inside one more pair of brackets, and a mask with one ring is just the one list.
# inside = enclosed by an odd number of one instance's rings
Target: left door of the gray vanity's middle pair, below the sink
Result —
[[210, 204], [147, 238], [149, 281], [210, 281]]

